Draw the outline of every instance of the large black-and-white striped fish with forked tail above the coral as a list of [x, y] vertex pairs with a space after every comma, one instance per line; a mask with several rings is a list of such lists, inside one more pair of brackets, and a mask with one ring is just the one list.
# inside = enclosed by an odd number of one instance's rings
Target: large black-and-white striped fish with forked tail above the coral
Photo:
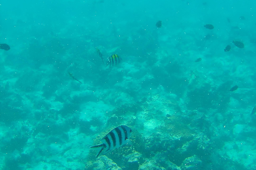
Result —
[[105, 152], [108, 152], [125, 144], [125, 141], [131, 136], [131, 131], [132, 129], [125, 125], [116, 127], [101, 139], [101, 144], [91, 146], [90, 148], [101, 147], [96, 156], [97, 158], [103, 149], [106, 148]]

